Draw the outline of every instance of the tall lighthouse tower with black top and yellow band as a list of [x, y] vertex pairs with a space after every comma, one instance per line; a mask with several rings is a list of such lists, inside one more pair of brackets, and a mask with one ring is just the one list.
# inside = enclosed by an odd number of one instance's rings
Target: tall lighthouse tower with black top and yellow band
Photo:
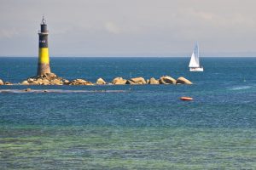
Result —
[[39, 50], [38, 50], [38, 73], [37, 76], [50, 73], [49, 68], [49, 51], [48, 51], [48, 30], [46, 20], [41, 22], [41, 30], [38, 31]]

